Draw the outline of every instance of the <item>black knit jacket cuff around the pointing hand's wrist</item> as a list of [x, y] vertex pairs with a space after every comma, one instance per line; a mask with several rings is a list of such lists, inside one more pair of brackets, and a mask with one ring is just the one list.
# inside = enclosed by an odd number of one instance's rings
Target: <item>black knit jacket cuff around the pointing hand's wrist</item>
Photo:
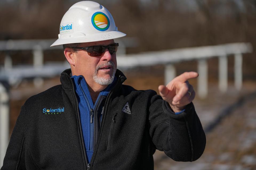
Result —
[[189, 114], [193, 114], [192, 111], [194, 110], [194, 105], [192, 102], [186, 105], [184, 111], [179, 114], [175, 114], [173, 109], [171, 109], [169, 103], [165, 100], [163, 100], [162, 102], [162, 107], [164, 112], [174, 119], [181, 119], [181, 118], [187, 117]]

